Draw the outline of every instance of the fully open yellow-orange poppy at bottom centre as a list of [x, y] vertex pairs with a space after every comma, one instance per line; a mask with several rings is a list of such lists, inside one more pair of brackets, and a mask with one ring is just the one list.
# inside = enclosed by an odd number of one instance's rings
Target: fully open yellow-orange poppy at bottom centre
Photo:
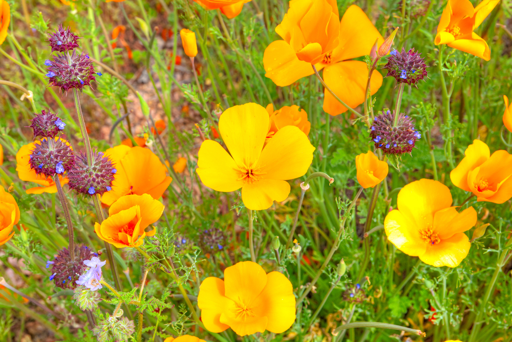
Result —
[[207, 277], [197, 303], [204, 327], [211, 332], [233, 329], [240, 336], [256, 332], [280, 334], [295, 322], [293, 287], [280, 272], [270, 272], [252, 261], [224, 270], [224, 280]]

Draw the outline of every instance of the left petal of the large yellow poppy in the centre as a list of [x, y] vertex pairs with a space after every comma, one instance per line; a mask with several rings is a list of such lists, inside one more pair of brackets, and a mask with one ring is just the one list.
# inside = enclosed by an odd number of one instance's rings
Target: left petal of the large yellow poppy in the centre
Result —
[[244, 185], [237, 164], [217, 141], [203, 141], [198, 156], [196, 172], [207, 187], [229, 192]]

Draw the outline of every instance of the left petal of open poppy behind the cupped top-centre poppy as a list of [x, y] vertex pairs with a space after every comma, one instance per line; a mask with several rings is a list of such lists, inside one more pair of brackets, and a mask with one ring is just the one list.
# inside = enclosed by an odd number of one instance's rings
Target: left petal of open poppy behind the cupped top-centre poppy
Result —
[[[316, 69], [322, 67], [317, 66]], [[314, 74], [311, 63], [299, 60], [295, 51], [284, 40], [272, 41], [265, 49], [263, 68], [265, 77], [279, 87], [289, 86], [298, 79]]]

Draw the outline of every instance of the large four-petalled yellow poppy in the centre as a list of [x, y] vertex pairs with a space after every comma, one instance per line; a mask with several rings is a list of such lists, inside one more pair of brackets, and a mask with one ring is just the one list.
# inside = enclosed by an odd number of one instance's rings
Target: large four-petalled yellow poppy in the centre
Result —
[[304, 176], [315, 148], [295, 126], [283, 127], [264, 146], [268, 127], [268, 113], [256, 103], [222, 113], [219, 131], [231, 155], [217, 141], [203, 141], [196, 169], [203, 184], [223, 192], [242, 188], [242, 200], [252, 210], [284, 201], [290, 194], [286, 180]]

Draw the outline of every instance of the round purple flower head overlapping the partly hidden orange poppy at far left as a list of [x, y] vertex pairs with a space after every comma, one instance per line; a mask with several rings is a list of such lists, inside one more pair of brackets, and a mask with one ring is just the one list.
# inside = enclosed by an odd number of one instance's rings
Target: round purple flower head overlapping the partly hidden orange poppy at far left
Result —
[[69, 142], [61, 138], [52, 139], [50, 145], [47, 138], [36, 140], [30, 154], [30, 167], [36, 174], [53, 177], [69, 172], [75, 165], [75, 154]]

